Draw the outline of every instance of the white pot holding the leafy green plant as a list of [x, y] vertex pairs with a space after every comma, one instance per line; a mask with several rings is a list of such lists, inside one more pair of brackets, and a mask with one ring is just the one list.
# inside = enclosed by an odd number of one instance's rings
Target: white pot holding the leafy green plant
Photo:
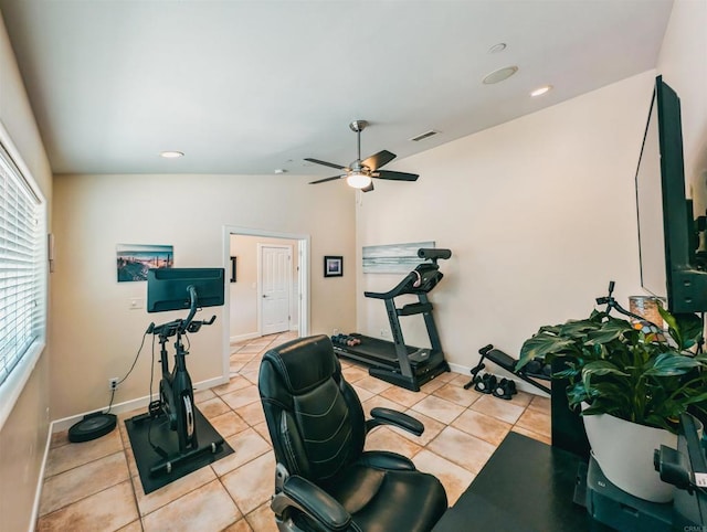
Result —
[[653, 466], [661, 445], [677, 448], [677, 436], [609, 414], [582, 416], [592, 455], [604, 476], [618, 488], [651, 502], [673, 500], [673, 486], [663, 482]]

